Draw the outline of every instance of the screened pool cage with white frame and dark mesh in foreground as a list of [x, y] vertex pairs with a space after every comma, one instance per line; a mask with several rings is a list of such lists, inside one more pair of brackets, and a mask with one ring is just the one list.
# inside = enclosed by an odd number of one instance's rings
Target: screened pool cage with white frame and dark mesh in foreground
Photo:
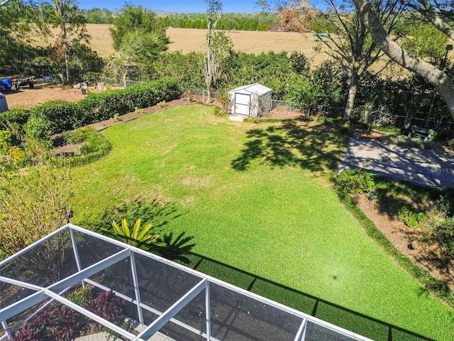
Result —
[[[128, 328], [68, 299], [82, 287], [119, 296]], [[0, 262], [0, 340], [59, 308], [123, 340], [370, 340], [73, 224]]]

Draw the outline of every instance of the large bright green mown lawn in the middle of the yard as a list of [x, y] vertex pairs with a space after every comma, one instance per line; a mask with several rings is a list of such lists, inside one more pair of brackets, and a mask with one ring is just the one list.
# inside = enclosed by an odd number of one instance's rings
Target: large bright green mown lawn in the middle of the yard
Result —
[[[321, 298], [319, 318], [376, 340], [421, 340], [398, 332], [389, 339], [386, 328], [358, 325], [331, 311], [326, 303], [332, 303], [434, 340], [453, 340], [453, 311], [389, 259], [340, 204], [329, 178], [346, 138], [334, 129], [238, 123], [194, 105], [103, 134], [111, 153], [73, 172], [74, 223], [94, 222], [128, 198], [170, 200], [180, 215], [165, 231], [194, 235], [196, 253]], [[269, 286], [258, 281], [255, 291], [314, 311], [315, 303]]]

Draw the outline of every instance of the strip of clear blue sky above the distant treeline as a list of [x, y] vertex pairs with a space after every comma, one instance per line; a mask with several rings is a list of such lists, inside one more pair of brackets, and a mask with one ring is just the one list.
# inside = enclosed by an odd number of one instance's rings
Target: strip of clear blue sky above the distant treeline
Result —
[[[150, 11], [172, 13], [205, 13], [205, 0], [78, 0], [79, 9], [119, 10], [125, 3], [143, 6]], [[260, 11], [257, 0], [222, 0], [223, 13], [252, 13]]]

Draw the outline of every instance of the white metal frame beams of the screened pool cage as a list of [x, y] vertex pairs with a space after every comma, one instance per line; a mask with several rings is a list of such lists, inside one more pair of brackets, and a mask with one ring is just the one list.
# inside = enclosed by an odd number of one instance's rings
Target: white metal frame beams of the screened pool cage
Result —
[[[3, 327], [3, 329], [5, 330], [5, 335], [0, 337], [0, 341], [11, 338], [12, 332], [15, 332], [21, 326], [21, 324], [20, 324], [20, 325], [16, 326], [16, 328], [14, 328], [13, 330], [9, 330], [6, 320], [8, 320], [9, 318], [12, 318], [13, 316], [17, 315], [18, 313], [23, 312], [24, 310], [26, 310], [28, 308], [32, 308], [35, 304], [48, 300], [49, 298], [51, 298], [52, 300], [55, 300], [55, 301], [59, 301], [60, 303], [67, 305], [68, 307], [73, 308], [74, 310], [77, 310], [79, 313], [86, 315], [88, 318], [92, 318], [92, 320], [95, 320], [96, 322], [101, 323], [106, 328], [109, 328], [109, 329], [113, 330], [114, 332], [118, 332], [118, 334], [123, 335], [128, 340], [134, 340], [134, 341], [135, 340], [137, 340], [137, 341], [148, 340], [153, 334], [155, 334], [155, 332], [159, 331], [162, 328], [162, 326], [164, 326], [168, 322], [172, 322], [172, 323], [176, 323], [177, 325], [179, 325], [182, 328], [189, 330], [190, 332], [194, 332], [197, 335], [201, 335], [202, 337], [206, 338], [206, 340], [208, 340], [208, 341], [218, 341], [215, 337], [211, 336], [211, 318], [210, 318], [211, 309], [210, 309], [209, 283], [214, 283], [218, 286], [222, 286], [223, 288], [226, 288], [229, 291], [234, 291], [236, 293], [239, 293], [240, 295], [246, 296], [248, 298], [252, 298], [255, 301], [265, 303], [266, 305], [270, 305], [273, 308], [277, 308], [278, 310], [282, 310], [286, 313], [289, 313], [290, 315], [294, 315], [294, 316], [297, 316], [298, 318], [301, 318], [301, 325], [299, 326], [297, 335], [295, 335], [295, 337], [294, 337], [294, 341], [304, 341], [305, 335], [306, 335], [306, 327], [307, 327], [308, 322], [314, 323], [316, 325], [320, 325], [323, 328], [327, 328], [328, 330], [332, 330], [333, 332], [336, 332], [338, 334], [344, 335], [346, 337], [350, 337], [353, 340], [372, 341], [367, 337], [363, 337], [354, 332], [350, 332], [349, 330], [345, 330], [345, 329], [340, 328], [331, 323], [327, 323], [326, 321], [320, 320], [319, 318], [314, 318], [313, 316], [308, 315], [306, 313], [301, 313], [298, 310], [294, 310], [292, 308], [289, 308], [289, 307], [282, 305], [280, 303], [277, 303], [275, 301], [268, 300], [267, 298], [258, 296], [255, 293], [251, 293], [250, 291], [245, 291], [242, 288], [238, 288], [229, 283], [220, 281], [217, 278], [207, 276], [206, 274], [202, 274], [199, 271], [190, 269], [187, 266], [177, 264], [168, 259], [164, 259], [160, 256], [156, 256], [155, 254], [150, 254], [147, 251], [144, 251], [142, 249], [137, 249], [135, 247], [131, 247], [128, 244], [124, 244], [115, 239], [105, 237], [101, 234], [97, 234], [88, 229], [83, 229], [82, 227], [78, 227], [74, 224], [66, 224], [64, 227], [57, 229], [57, 231], [49, 234], [48, 236], [44, 237], [43, 239], [40, 239], [38, 242], [31, 244], [30, 246], [26, 247], [25, 249], [19, 251], [17, 254], [10, 256], [9, 258], [5, 259], [4, 261], [1, 261], [0, 268], [4, 265], [8, 264], [13, 259], [16, 259], [18, 256], [21, 256], [22, 254], [25, 254], [27, 251], [30, 251], [31, 249], [33, 249], [33, 247], [37, 246], [38, 244], [41, 244], [41, 243], [45, 242], [46, 240], [48, 240], [52, 237], [55, 237], [57, 234], [60, 234], [61, 232], [64, 232], [65, 230], [68, 230], [70, 232], [72, 248], [74, 251], [74, 257], [75, 257], [75, 261], [77, 264], [77, 272], [75, 274], [67, 276], [66, 278], [63, 278], [62, 280], [57, 281], [56, 283], [53, 283], [52, 285], [47, 286], [47, 287], [35, 286], [31, 283], [25, 283], [23, 281], [18, 281], [18, 280], [14, 280], [12, 278], [6, 278], [5, 276], [0, 276], [0, 281], [3, 281], [5, 283], [10, 283], [10, 284], [13, 284], [16, 286], [22, 286], [23, 288], [30, 288], [32, 290], [35, 290], [35, 293], [32, 293], [31, 295], [29, 295], [25, 298], [22, 298], [20, 301], [17, 301], [15, 303], [12, 303], [12, 304], [0, 309], [0, 323], [1, 323], [1, 326]], [[109, 257], [106, 257], [105, 259], [101, 259], [101, 261], [98, 261], [95, 264], [92, 264], [91, 266], [87, 266], [85, 269], [82, 269], [82, 266], [80, 264], [80, 259], [79, 259], [79, 252], [78, 252], [77, 245], [76, 245], [75, 239], [74, 239], [74, 234], [73, 234], [74, 231], [101, 239], [104, 242], [109, 242], [110, 244], [114, 244], [123, 249], [116, 252], [115, 254], [112, 254]], [[160, 311], [156, 310], [155, 308], [145, 305], [144, 303], [142, 303], [140, 301], [140, 292], [139, 292], [139, 288], [138, 288], [137, 273], [135, 270], [134, 254], [141, 254], [143, 256], [147, 256], [150, 259], [154, 259], [155, 261], [160, 261], [163, 264], [167, 264], [167, 266], [172, 266], [172, 267], [179, 269], [181, 271], [184, 271], [188, 274], [192, 274], [193, 276], [200, 278], [200, 281], [195, 286], [193, 286], [189, 291], [187, 291], [187, 293], [185, 293], [181, 298], [179, 298], [179, 300], [177, 300], [175, 303], [173, 303], [170, 306], [170, 308], [168, 308], [164, 312], [160, 312]], [[89, 279], [90, 276], [98, 273], [99, 271], [106, 269], [108, 266], [116, 264], [118, 261], [127, 259], [128, 257], [130, 257], [130, 259], [131, 259], [131, 271], [133, 274], [133, 286], [134, 286], [134, 290], [135, 290], [134, 298], [131, 298], [131, 297], [128, 297], [121, 293], [118, 293], [118, 291], [115, 291], [114, 288], [107, 288], [106, 286], [103, 286], [100, 283], [96, 283], [95, 281], [92, 281], [91, 279]], [[85, 308], [82, 308], [81, 306], [79, 306], [75, 303], [72, 303], [71, 301], [67, 300], [67, 298], [64, 298], [61, 296], [62, 293], [64, 293], [65, 291], [67, 291], [69, 288], [76, 285], [77, 283], [82, 283], [82, 285], [84, 285], [85, 283], [89, 283], [89, 284], [96, 286], [98, 288], [101, 288], [103, 290], [112, 290], [114, 293], [116, 293], [117, 296], [123, 298], [125, 301], [133, 303], [137, 307], [138, 317], [140, 320], [139, 323], [141, 323], [141, 324], [143, 324], [143, 309], [148, 310], [152, 313], [155, 313], [156, 315], [159, 315], [159, 317], [155, 321], [153, 321], [153, 323], [146, 326], [145, 329], [142, 332], [140, 332], [139, 335], [133, 335], [131, 332], [127, 332], [126, 330], [123, 330], [122, 328], [118, 327], [117, 325], [114, 325], [114, 323], [111, 323], [108, 320], [104, 320], [103, 318], [99, 317], [98, 315], [90, 312], [89, 310], [87, 310]], [[186, 323], [183, 323], [183, 322], [175, 319], [175, 315], [180, 310], [182, 310], [190, 301], [192, 301], [193, 298], [195, 298], [197, 295], [199, 295], [199, 293], [201, 293], [202, 291], [205, 292], [206, 332], [204, 332], [202, 330], [197, 330], [196, 328], [193, 328], [192, 326], [189, 326]]]

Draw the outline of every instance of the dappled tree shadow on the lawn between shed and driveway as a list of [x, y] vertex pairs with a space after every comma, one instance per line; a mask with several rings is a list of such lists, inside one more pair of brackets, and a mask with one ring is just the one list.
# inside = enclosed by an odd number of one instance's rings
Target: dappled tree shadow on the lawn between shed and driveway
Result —
[[348, 137], [338, 126], [307, 126], [303, 121], [284, 120], [280, 125], [251, 129], [233, 169], [245, 171], [253, 161], [276, 167], [293, 166], [314, 172], [335, 171]]

